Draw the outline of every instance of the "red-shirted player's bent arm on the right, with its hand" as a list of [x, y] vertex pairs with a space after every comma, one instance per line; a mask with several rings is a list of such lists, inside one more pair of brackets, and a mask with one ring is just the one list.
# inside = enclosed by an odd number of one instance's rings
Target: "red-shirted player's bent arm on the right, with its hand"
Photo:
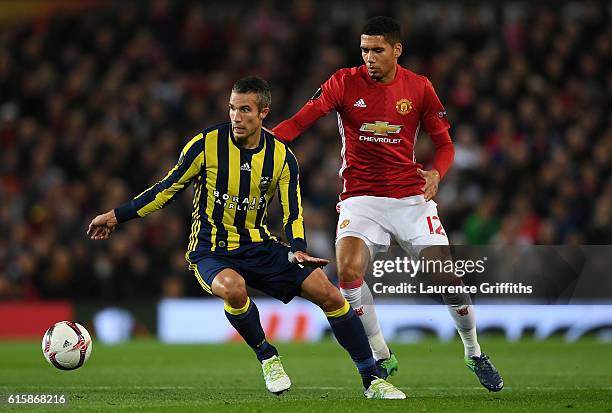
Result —
[[425, 84], [423, 94], [421, 123], [436, 147], [433, 168], [429, 171], [417, 170], [419, 176], [425, 179], [425, 185], [422, 189], [425, 200], [429, 201], [438, 192], [440, 180], [444, 177], [455, 158], [455, 147], [448, 133], [450, 123], [448, 122], [446, 109], [444, 109], [429, 80]]

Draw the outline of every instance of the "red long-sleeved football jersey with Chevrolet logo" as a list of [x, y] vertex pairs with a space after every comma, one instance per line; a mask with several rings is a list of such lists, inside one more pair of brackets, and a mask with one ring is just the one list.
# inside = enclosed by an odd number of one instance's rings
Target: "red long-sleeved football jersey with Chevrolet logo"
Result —
[[434, 167], [442, 176], [452, 163], [454, 148], [446, 111], [425, 76], [398, 65], [395, 79], [382, 84], [372, 80], [364, 65], [340, 69], [295, 116], [276, 126], [274, 133], [292, 141], [334, 109], [342, 138], [341, 199], [422, 194], [425, 181], [416, 172], [422, 165], [414, 156], [421, 126], [434, 139]]

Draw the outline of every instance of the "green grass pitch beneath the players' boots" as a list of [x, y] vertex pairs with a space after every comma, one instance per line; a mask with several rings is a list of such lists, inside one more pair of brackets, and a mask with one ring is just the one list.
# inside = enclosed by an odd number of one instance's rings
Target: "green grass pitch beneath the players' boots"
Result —
[[[348, 358], [332, 341], [279, 344], [293, 387], [280, 397], [264, 387], [260, 367], [242, 343], [164, 345], [94, 343], [76, 371], [44, 360], [37, 342], [0, 343], [0, 411], [83, 412], [612, 412], [612, 344], [583, 339], [484, 337], [485, 352], [506, 388], [489, 393], [463, 364], [457, 341], [395, 344], [400, 371], [392, 382], [407, 400], [366, 400]], [[68, 406], [9, 406], [8, 394], [65, 394]], [[381, 410], [383, 409], [383, 410]]]

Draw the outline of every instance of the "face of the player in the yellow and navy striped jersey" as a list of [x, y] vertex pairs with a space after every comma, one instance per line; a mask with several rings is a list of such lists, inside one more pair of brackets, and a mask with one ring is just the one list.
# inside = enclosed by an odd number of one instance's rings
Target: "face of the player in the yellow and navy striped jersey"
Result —
[[230, 95], [229, 114], [232, 121], [232, 132], [237, 139], [245, 139], [253, 135], [270, 111], [263, 108], [259, 111], [256, 93], [235, 93]]

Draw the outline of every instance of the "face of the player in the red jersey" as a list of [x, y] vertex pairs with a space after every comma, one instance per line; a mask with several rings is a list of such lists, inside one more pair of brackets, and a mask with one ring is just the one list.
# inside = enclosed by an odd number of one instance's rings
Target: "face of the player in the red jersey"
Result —
[[402, 54], [401, 43], [391, 46], [384, 36], [361, 35], [361, 57], [368, 68], [368, 74], [377, 82], [388, 82]]

